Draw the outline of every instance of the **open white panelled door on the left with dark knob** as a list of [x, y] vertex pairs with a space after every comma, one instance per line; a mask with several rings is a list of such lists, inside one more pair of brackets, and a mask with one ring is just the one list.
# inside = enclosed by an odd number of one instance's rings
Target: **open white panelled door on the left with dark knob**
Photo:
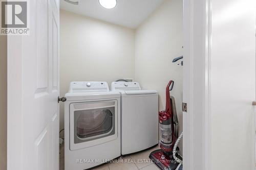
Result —
[[8, 36], [8, 170], [57, 170], [59, 1], [29, 2], [30, 35]]

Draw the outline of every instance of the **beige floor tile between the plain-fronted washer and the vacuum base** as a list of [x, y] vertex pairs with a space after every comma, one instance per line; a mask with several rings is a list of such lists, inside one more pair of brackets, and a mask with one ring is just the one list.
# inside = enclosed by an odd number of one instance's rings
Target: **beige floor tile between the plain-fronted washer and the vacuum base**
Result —
[[142, 167], [148, 166], [153, 163], [153, 161], [148, 156], [150, 156], [150, 153], [152, 151], [155, 151], [158, 149], [160, 149], [160, 148], [157, 146], [153, 149], [146, 150], [146, 151], [140, 152], [138, 154], [130, 155], [130, 156], [132, 159], [134, 159], [136, 166], [138, 168], [142, 168]]

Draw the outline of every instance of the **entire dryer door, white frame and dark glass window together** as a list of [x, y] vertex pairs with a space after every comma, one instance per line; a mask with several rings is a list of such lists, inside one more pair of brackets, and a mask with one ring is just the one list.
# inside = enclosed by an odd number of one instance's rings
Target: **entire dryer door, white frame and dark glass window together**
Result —
[[117, 138], [117, 101], [70, 104], [70, 150]]

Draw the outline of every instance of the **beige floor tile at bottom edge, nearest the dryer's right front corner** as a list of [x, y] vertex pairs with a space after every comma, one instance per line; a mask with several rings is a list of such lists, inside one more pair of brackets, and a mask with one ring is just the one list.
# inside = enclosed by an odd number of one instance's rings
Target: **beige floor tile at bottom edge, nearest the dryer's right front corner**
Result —
[[138, 167], [133, 162], [130, 156], [122, 157], [117, 160], [116, 162], [109, 163], [110, 170], [137, 170]]

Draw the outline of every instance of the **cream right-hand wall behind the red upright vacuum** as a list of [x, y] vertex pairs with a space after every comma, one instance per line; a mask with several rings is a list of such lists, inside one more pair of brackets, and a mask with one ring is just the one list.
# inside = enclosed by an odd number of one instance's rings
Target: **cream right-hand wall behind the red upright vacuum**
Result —
[[172, 63], [182, 56], [182, 11], [180, 0], [166, 0], [136, 30], [135, 81], [144, 89], [159, 92], [159, 109], [165, 108], [165, 87], [170, 79], [175, 86], [177, 113], [182, 130], [182, 66]]

